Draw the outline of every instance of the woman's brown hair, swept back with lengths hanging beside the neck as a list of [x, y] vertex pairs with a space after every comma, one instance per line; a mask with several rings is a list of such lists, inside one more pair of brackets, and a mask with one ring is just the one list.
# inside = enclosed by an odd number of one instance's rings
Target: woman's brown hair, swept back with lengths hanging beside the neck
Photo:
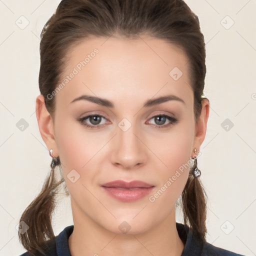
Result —
[[[88, 36], [149, 35], [181, 48], [188, 57], [190, 86], [193, 90], [193, 112], [197, 122], [201, 113], [205, 66], [205, 43], [198, 17], [183, 0], [62, 0], [45, 23], [40, 34], [39, 89], [47, 111], [54, 117], [55, 100], [47, 97], [60, 82], [67, 64], [68, 52]], [[60, 164], [59, 156], [57, 165]], [[62, 175], [62, 174], [61, 174]], [[28, 230], [18, 233], [29, 252], [40, 251], [54, 238], [51, 215], [57, 187], [54, 168], [44, 181], [41, 192], [24, 210], [20, 221]], [[68, 194], [68, 192], [66, 193]], [[201, 240], [206, 235], [206, 193], [198, 178], [189, 171], [181, 194], [184, 224], [189, 224]]]

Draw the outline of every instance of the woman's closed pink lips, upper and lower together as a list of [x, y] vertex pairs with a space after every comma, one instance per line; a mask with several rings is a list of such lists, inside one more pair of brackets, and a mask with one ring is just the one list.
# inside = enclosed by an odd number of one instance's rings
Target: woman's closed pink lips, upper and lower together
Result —
[[101, 185], [101, 187], [113, 198], [132, 202], [146, 196], [154, 187], [144, 181], [133, 180], [126, 182], [123, 180], [114, 180]]

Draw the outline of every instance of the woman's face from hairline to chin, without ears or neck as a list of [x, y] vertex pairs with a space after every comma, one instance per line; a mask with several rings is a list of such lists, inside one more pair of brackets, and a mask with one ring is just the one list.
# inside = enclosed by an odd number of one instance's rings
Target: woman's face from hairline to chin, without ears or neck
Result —
[[[55, 145], [73, 217], [116, 233], [122, 226], [144, 232], [174, 218], [189, 171], [181, 166], [194, 146], [188, 59], [170, 43], [141, 38], [90, 37], [77, 44], [62, 73], [68, 82], [54, 95]], [[77, 99], [82, 95], [102, 100]], [[152, 187], [102, 186], [114, 180]]]

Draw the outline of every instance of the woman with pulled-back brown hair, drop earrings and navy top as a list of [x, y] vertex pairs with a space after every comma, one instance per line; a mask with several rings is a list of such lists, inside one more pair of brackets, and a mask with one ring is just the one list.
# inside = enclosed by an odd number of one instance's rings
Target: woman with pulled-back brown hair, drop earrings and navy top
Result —
[[[52, 162], [20, 217], [22, 255], [239, 255], [205, 239], [197, 157], [209, 100], [204, 38], [189, 7], [63, 0], [40, 56], [36, 116]], [[55, 237], [62, 183], [74, 225]]]

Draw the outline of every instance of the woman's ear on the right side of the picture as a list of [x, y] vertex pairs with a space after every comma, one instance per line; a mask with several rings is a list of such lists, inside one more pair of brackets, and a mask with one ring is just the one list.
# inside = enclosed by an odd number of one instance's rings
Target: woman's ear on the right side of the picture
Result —
[[[193, 142], [193, 148], [195, 147], [197, 152], [199, 151], [200, 145], [202, 144], [205, 138], [208, 116], [209, 116], [209, 100], [207, 98], [204, 98], [201, 101], [201, 113], [198, 116], [197, 122], [195, 124], [195, 137]], [[193, 148], [192, 148], [191, 157], [195, 157]]]

